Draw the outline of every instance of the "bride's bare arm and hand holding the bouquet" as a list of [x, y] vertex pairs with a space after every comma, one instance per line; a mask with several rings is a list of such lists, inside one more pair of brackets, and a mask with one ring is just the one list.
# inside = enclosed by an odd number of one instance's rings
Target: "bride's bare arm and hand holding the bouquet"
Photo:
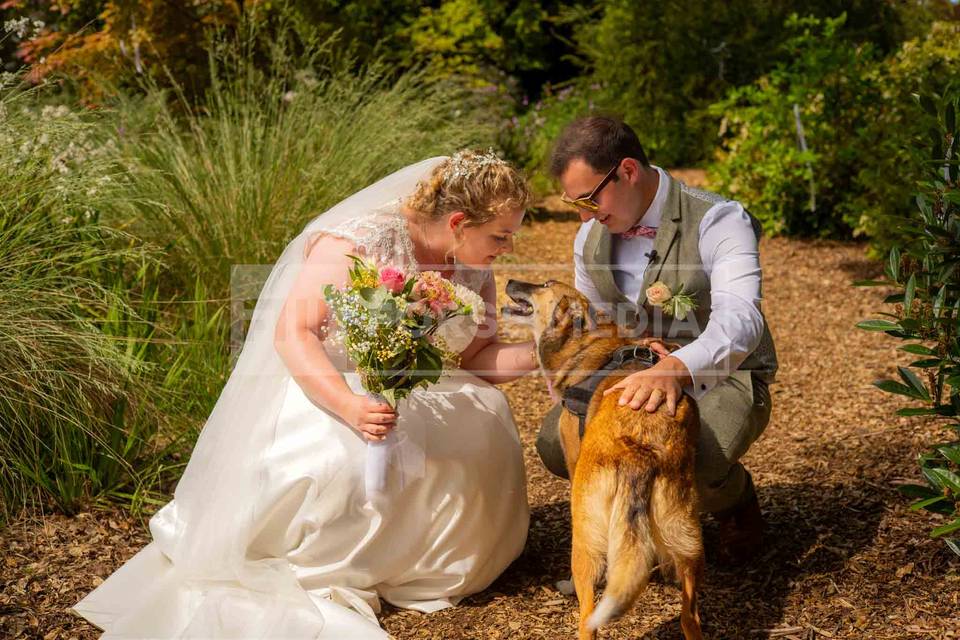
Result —
[[396, 414], [385, 403], [355, 394], [323, 346], [330, 321], [323, 287], [347, 283], [353, 245], [327, 236], [309, 251], [280, 312], [274, 347], [311, 402], [340, 416], [366, 439], [382, 440]]

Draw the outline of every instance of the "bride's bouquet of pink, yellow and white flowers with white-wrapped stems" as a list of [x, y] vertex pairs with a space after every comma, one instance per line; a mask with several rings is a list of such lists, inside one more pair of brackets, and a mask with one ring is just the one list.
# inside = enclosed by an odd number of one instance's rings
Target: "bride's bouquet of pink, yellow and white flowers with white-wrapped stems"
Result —
[[[458, 364], [458, 355], [438, 330], [455, 316], [471, 316], [479, 324], [483, 300], [436, 271], [409, 276], [395, 267], [377, 268], [357, 256], [350, 258], [350, 283], [342, 289], [327, 285], [324, 297], [363, 388], [396, 409], [414, 389], [437, 382], [445, 367]], [[367, 443], [368, 498], [383, 491], [398, 444], [397, 429], [381, 442]]]

